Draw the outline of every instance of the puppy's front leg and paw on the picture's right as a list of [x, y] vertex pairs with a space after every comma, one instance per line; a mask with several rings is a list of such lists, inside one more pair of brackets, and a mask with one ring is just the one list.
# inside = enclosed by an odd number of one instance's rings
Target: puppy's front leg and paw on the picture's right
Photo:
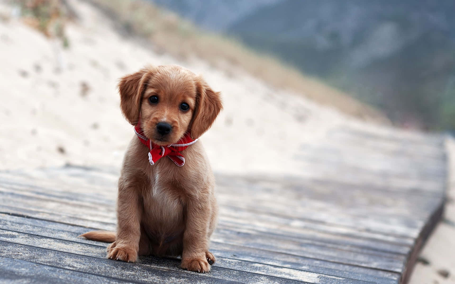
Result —
[[210, 271], [210, 264], [206, 257], [210, 210], [205, 200], [190, 200], [187, 203], [186, 229], [183, 233], [183, 253], [180, 264], [183, 269], [202, 273]]

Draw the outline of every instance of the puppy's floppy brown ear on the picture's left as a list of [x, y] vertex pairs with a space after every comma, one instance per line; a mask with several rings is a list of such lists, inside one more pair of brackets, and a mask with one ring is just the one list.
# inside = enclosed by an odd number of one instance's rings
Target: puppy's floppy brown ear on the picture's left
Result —
[[124, 76], [118, 83], [121, 112], [131, 125], [136, 125], [139, 120], [142, 96], [152, 74], [152, 68], [144, 68]]

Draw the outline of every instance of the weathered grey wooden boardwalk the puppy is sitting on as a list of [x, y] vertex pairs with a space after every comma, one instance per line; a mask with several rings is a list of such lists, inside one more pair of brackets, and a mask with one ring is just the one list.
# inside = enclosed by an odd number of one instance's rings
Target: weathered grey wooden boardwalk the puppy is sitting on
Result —
[[0, 282], [405, 283], [442, 214], [442, 137], [340, 128], [293, 159], [302, 177], [217, 175], [208, 274], [77, 237], [115, 229], [116, 170], [0, 172]]

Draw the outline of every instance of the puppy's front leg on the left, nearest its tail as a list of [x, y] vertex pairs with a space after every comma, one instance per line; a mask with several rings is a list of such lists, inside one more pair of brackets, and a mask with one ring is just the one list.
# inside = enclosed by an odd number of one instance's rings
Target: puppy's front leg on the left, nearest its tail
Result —
[[136, 262], [141, 237], [141, 206], [133, 186], [119, 182], [116, 241], [107, 247], [107, 258]]

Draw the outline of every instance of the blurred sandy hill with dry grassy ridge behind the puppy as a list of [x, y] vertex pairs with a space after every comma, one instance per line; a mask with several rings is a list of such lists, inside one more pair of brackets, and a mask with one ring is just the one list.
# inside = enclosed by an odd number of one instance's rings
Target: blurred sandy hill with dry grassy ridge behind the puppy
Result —
[[118, 168], [134, 135], [117, 80], [147, 64], [185, 66], [222, 91], [224, 110], [202, 137], [216, 171], [302, 174], [293, 159], [302, 144], [339, 125], [387, 124], [319, 81], [141, 1], [1, 3], [2, 169]]

